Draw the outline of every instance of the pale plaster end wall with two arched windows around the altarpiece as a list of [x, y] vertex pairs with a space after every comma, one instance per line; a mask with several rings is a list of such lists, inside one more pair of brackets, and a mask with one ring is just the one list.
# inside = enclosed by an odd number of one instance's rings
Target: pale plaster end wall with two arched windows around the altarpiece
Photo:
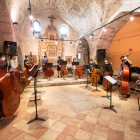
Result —
[[[38, 20], [40, 22], [41, 35], [45, 33], [46, 29], [48, 28], [48, 25], [51, 24], [50, 19], [48, 18], [51, 15], [53, 15], [56, 18], [53, 22], [53, 25], [58, 31], [59, 38], [61, 38], [61, 34], [60, 34], [61, 25], [65, 24], [68, 27], [68, 37], [64, 37], [64, 39], [65, 40], [77, 39], [77, 35], [74, 29], [65, 20], [59, 17], [59, 15], [57, 15], [55, 12], [51, 10], [40, 10], [38, 12], [33, 13], [33, 17], [34, 17], [33, 20]], [[30, 52], [32, 52], [33, 55], [38, 56], [39, 40], [33, 39], [33, 34], [30, 29], [31, 29], [31, 20], [27, 17], [22, 26], [22, 32], [21, 32], [23, 55], [29, 55]], [[36, 34], [36, 36], [39, 35]], [[76, 43], [72, 42], [72, 44], [70, 44], [70, 41], [64, 41], [63, 44], [64, 44], [64, 59], [65, 56], [72, 56], [72, 58], [74, 58], [77, 53]]]

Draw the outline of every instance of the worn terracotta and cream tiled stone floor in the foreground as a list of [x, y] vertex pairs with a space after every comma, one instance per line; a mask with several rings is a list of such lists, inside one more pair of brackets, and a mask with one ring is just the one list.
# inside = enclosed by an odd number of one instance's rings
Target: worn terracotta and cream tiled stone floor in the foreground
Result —
[[[93, 92], [94, 88], [86, 89], [83, 84], [38, 88], [38, 115], [46, 121], [31, 124], [27, 122], [35, 116], [34, 102], [29, 102], [33, 89], [25, 89], [14, 118], [2, 121], [0, 140], [140, 140], [140, 112], [135, 94], [126, 100], [113, 92], [115, 113], [103, 109], [110, 101], [101, 97], [106, 95], [101, 87], [100, 92]], [[72, 94], [78, 96], [71, 100]], [[85, 111], [76, 112], [72, 105], [84, 101], [79, 94], [92, 99], [93, 106], [85, 108], [84, 102], [76, 107]]]

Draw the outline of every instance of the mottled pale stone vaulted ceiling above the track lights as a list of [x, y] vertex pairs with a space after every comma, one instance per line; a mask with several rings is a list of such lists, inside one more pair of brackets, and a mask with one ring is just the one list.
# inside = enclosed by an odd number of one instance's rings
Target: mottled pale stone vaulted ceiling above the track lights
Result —
[[[29, 15], [28, 0], [6, 0], [12, 21], [19, 27]], [[112, 16], [138, 7], [139, 0], [31, 0], [32, 13], [38, 10], [53, 10], [69, 21], [80, 37], [108, 22]], [[127, 8], [129, 7], [129, 8]]]

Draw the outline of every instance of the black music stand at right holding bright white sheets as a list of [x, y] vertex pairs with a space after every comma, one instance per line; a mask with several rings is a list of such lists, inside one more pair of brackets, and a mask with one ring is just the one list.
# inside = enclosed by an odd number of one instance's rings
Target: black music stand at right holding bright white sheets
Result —
[[[110, 82], [112, 85], [114, 85], [117, 81], [113, 79], [111, 76], [105, 76], [104, 77], [108, 82]], [[116, 112], [117, 111], [113, 108], [114, 106], [112, 105], [112, 89], [110, 90], [110, 107], [103, 107], [103, 109], [111, 109], [112, 111]]]

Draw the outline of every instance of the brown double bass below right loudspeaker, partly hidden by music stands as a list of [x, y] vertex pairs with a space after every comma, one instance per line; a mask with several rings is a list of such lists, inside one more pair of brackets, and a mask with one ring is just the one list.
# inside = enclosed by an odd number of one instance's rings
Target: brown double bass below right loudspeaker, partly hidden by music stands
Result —
[[[108, 59], [110, 60], [111, 62], [111, 57], [110, 57], [110, 54], [108, 56]], [[104, 72], [104, 76], [113, 76], [113, 71], [105, 71]], [[112, 84], [110, 82], [108, 82], [105, 78], [103, 78], [103, 88], [104, 90], [110, 90], [112, 88]]]

